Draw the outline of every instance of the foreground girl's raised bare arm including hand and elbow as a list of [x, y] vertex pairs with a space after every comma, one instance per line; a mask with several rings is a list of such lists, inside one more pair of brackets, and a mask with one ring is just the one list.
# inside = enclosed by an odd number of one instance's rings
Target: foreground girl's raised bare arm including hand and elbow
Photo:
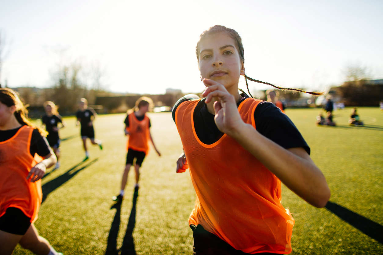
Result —
[[[202, 94], [214, 102], [214, 121], [221, 132], [234, 138], [259, 159], [288, 188], [313, 206], [323, 207], [330, 198], [326, 179], [303, 148], [284, 149], [244, 123], [234, 96], [223, 85], [204, 79], [208, 88]], [[214, 98], [213, 98], [214, 97]]]

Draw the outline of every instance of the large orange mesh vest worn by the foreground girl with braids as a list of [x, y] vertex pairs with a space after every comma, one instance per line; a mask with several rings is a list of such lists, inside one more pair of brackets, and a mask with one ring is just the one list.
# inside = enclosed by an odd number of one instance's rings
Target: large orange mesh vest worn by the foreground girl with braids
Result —
[[[280, 180], [226, 134], [211, 145], [202, 143], [193, 123], [199, 101], [185, 101], [175, 112], [197, 195], [189, 224], [201, 224], [246, 253], [290, 253], [295, 221], [280, 203]], [[259, 102], [247, 98], [238, 107], [242, 120], [254, 128]]]

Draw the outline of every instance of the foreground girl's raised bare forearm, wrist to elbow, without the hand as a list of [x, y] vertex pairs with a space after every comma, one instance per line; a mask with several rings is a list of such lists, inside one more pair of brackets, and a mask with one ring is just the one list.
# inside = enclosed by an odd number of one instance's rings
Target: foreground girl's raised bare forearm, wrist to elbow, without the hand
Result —
[[326, 205], [330, 197], [326, 179], [303, 148], [285, 149], [243, 122], [228, 135], [298, 196], [316, 207]]

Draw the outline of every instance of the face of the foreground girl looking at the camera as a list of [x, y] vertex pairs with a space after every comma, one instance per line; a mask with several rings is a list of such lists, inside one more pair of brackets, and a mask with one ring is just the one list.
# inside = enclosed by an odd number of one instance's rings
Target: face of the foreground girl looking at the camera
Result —
[[245, 67], [236, 46], [236, 41], [226, 32], [203, 37], [198, 60], [201, 78], [217, 81], [226, 89], [238, 87], [239, 76], [245, 74]]

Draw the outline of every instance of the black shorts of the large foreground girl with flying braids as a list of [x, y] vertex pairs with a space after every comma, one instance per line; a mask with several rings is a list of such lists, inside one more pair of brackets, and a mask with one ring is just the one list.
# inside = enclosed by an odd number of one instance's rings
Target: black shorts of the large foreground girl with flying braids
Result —
[[[219, 238], [218, 236], [206, 231], [202, 225], [198, 224], [190, 225], [191, 230], [193, 230], [193, 254], [196, 255], [243, 255], [250, 254], [244, 253], [241, 250], [234, 249], [227, 242]], [[266, 254], [275, 254], [275, 253], [257, 253], [257, 255], [266, 255]]]

